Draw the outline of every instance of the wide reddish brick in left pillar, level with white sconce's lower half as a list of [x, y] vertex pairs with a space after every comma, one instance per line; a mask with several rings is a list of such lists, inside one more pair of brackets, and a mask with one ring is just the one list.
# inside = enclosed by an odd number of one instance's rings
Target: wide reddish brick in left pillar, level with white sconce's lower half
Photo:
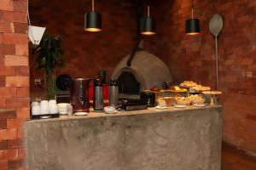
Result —
[[27, 34], [4, 33], [3, 42], [5, 44], [26, 44], [28, 42]]

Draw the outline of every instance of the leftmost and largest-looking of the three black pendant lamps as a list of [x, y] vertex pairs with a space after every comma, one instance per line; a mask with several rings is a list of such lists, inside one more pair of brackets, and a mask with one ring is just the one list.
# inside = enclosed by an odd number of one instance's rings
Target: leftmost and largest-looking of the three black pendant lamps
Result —
[[94, 0], [91, 0], [92, 11], [84, 14], [84, 31], [102, 31], [102, 15], [94, 11]]

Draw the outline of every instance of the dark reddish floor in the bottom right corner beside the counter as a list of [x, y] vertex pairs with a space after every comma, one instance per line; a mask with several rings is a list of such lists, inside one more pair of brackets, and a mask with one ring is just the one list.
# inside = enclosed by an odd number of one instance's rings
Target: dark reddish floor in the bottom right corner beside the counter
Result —
[[256, 170], [256, 157], [247, 156], [243, 151], [223, 144], [222, 170]]

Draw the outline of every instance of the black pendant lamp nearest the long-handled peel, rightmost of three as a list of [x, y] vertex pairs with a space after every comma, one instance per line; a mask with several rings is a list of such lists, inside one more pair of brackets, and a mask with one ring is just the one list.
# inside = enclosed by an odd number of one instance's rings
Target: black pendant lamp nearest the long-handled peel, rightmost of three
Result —
[[200, 20], [194, 19], [194, 4], [192, 0], [192, 18], [186, 20], [186, 34], [195, 36], [200, 34]]

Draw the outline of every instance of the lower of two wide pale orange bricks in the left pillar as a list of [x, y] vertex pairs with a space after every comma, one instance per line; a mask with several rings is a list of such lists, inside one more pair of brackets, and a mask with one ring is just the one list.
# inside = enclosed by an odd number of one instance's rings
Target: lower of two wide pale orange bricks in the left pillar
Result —
[[6, 77], [6, 87], [29, 87], [29, 77]]

